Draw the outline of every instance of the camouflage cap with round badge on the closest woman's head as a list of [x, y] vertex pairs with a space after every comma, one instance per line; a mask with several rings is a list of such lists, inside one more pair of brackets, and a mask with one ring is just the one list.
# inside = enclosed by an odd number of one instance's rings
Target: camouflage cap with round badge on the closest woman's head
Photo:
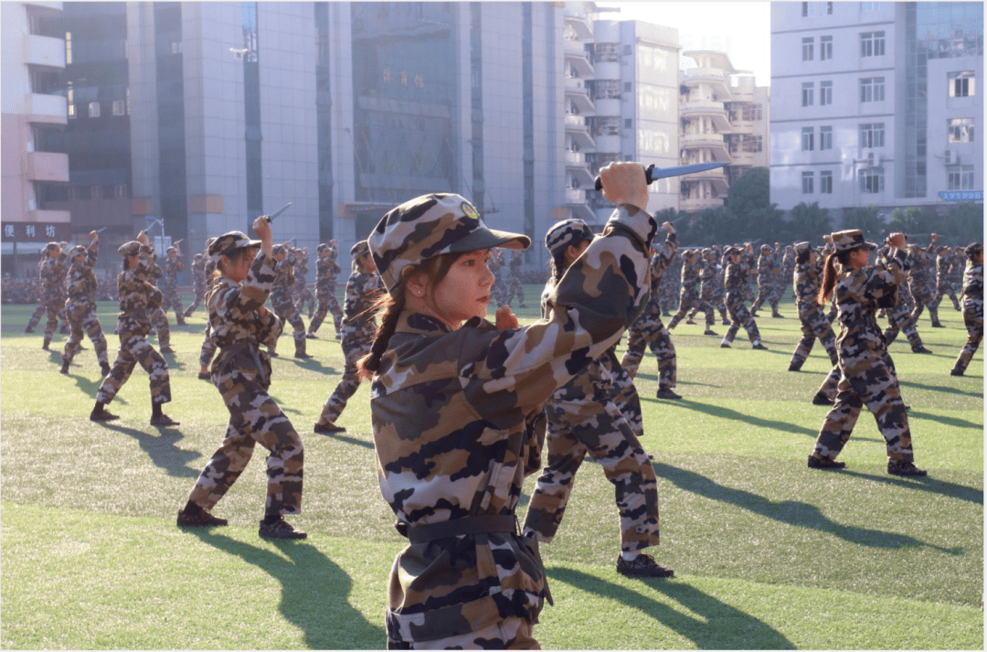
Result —
[[525, 249], [531, 239], [488, 228], [473, 204], [459, 195], [422, 195], [392, 208], [367, 239], [388, 291], [402, 271], [430, 258], [492, 247]]

